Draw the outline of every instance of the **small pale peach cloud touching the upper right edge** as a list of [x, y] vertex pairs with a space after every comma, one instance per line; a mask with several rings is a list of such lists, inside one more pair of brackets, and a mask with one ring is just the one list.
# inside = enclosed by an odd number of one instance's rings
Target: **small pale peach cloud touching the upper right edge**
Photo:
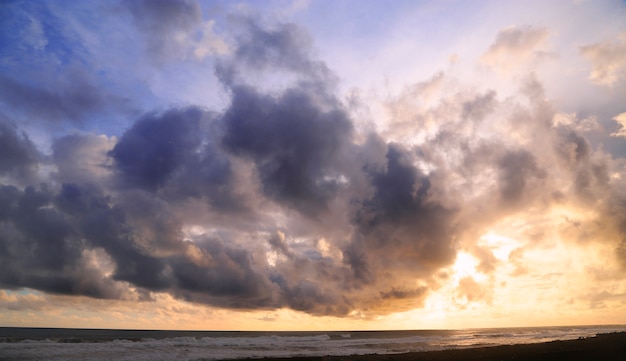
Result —
[[626, 34], [615, 39], [580, 47], [580, 54], [591, 62], [589, 80], [613, 86], [626, 79]]

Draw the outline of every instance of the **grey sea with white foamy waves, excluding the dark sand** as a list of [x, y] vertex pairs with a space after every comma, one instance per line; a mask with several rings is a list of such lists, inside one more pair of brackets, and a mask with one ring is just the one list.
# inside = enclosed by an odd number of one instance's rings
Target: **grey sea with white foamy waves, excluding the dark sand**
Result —
[[345, 356], [570, 340], [623, 326], [235, 332], [0, 327], [0, 360], [227, 360]]

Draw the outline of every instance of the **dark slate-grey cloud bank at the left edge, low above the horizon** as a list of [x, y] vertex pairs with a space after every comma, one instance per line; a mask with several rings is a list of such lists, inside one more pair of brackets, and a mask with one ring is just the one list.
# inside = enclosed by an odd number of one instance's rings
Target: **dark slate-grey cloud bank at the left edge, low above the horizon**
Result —
[[0, 284], [121, 298], [123, 290], [82, 258], [83, 240], [47, 189], [0, 187]]

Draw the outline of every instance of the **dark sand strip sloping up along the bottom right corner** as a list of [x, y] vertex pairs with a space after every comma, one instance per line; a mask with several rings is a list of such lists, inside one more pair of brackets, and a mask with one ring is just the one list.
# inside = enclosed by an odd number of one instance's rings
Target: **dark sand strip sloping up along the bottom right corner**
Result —
[[[258, 359], [257, 359], [258, 360]], [[487, 361], [602, 360], [626, 361], [626, 332], [569, 341], [507, 345], [396, 355], [265, 358], [263, 361]]]

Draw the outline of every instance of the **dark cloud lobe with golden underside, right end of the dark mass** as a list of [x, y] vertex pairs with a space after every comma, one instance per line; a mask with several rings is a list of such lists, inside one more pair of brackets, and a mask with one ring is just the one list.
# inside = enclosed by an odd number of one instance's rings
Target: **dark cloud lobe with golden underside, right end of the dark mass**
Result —
[[430, 199], [431, 180], [413, 166], [410, 152], [395, 144], [385, 148], [385, 163], [365, 165], [372, 193], [358, 200], [344, 262], [353, 287], [378, 289], [378, 297], [387, 295], [379, 299], [383, 304], [396, 299], [415, 307], [427, 295], [430, 277], [454, 260], [455, 210]]

